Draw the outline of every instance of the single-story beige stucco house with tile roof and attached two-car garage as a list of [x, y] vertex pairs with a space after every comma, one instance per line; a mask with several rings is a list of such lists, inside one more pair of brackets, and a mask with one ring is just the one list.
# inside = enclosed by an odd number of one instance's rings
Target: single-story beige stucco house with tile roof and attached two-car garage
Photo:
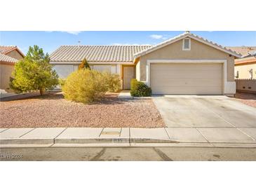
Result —
[[50, 55], [61, 78], [86, 57], [92, 69], [119, 74], [122, 88], [137, 78], [153, 94], [234, 95], [238, 53], [185, 32], [156, 46], [60, 46]]

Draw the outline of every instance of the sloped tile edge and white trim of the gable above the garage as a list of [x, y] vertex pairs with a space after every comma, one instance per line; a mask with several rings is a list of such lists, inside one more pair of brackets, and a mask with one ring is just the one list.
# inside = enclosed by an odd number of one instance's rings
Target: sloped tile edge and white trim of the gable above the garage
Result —
[[198, 36], [196, 34], [191, 34], [190, 32], [184, 32], [183, 34], [180, 34], [178, 36], [175, 36], [171, 39], [168, 39], [166, 41], [163, 41], [155, 46], [152, 46], [151, 48], [148, 48], [147, 50], [142, 50], [140, 53], [136, 53], [135, 54], [135, 57], [140, 57], [142, 55], [145, 55], [147, 53], [151, 53], [152, 51], [156, 50], [156, 49], [159, 49], [159, 48], [162, 48], [163, 46], [167, 46], [169, 45], [170, 43], [174, 43], [176, 41], [179, 41], [180, 39], [184, 39], [186, 37], [190, 37], [191, 39], [195, 39], [197, 41], [201, 41], [202, 43], [206, 43], [208, 44], [209, 46], [213, 46], [214, 48], [217, 48], [219, 50], [222, 50], [226, 53], [229, 53], [231, 55], [234, 55], [236, 57], [241, 57], [241, 55], [239, 53], [236, 53], [236, 51], [234, 50], [231, 50], [229, 48], [226, 48], [224, 46], [220, 46], [219, 44], [217, 43], [214, 43], [213, 41], [209, 41], [208, 39], [204, 39], [203, 37], [201, 36]]

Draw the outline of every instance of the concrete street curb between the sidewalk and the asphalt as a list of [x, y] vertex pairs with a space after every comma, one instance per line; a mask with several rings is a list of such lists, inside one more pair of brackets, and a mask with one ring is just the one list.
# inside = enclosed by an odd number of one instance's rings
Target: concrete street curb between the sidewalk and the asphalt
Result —
[[12, 147], [219, 147], [219, 148], [256, 148], [255, 143], [203, 143], [177, 142], [150, 138], [15, 138], [0, 139], [0, 148]]

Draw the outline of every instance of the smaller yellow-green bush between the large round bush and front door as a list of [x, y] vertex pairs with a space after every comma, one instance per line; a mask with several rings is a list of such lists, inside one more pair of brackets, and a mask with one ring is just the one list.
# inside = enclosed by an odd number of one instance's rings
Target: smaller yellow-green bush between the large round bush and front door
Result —
[[118, 74], [111, 74], [109, 72], [103, 72], [102, 75], [105, 78], [107, 90], [109, 92], [116, 92], [121, 89], [121, 81]]

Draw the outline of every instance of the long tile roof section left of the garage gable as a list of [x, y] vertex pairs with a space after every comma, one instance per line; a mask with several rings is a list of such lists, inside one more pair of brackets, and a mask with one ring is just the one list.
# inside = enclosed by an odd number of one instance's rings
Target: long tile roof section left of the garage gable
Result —
[[151, 46], [60, 46], [50, 54], [51, 62], [133, 62], [133, 55]]

